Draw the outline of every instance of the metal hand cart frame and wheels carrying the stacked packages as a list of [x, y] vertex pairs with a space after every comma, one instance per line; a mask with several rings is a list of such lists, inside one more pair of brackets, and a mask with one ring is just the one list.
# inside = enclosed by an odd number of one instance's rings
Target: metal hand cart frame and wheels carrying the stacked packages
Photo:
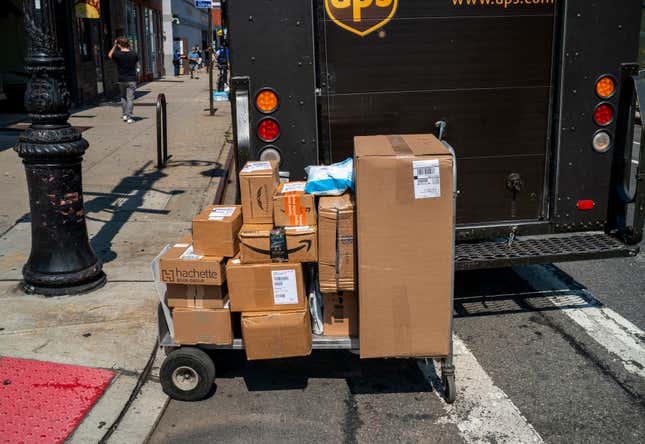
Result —
[[[446, 125], [444, 122], [437, 122], [439, 138], [443, 139]], [[453, 196], [457, 196], [457, 163], [454, 149], [442, 140], [453, 158]], [[455, 211], [453, 210], [453, 227]], [[454, 302], [454, 242], [455, 234], [453, 229], [453, 276], [451, 291], [451, 307]], [[181, 401], [198, 401], [205, 398], [212, 390], [215, 381], [215, 363], [206, 350], [243, 350], [244, 341], [240, 338], [233, 339], [232, 344], [214, 345], [179, 345], [174, 340], [174, 327], [170, 310], [165, 304], [165, 284], [159, 280], [159, 257], [165, 253], [168, 247], [152, 263], [152, 270], [157, 292], [160, 297], [158, 309], [159, 345], [166, 352], [166, 358], [161, 365], [160, 380], [164, 392], [173, 399]], [[311, 283], [310, 283], [311, 284]], [[453, 316], [450, 315], [450, 347], [448, 356], [441, 358], [441, 382], [444, 389], [444, 398], [447, 403], [453, 403], [456, 398], [455, 367], [453, 362]], [[359, 350], [358, 337], [334, 337], [312, 335], [312, 349], [315, 350]], [[429, 357], [419, 357], [429, 358]]]

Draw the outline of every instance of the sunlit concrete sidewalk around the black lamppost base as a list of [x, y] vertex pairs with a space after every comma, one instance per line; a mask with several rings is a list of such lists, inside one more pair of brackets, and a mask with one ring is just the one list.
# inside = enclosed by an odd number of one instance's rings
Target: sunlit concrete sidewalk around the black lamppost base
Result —
[[[226, 180], [222, 163], [230, 110], [208, 113], [208, 79], [185, 77], [142, 85], [137, 122], [121, 121], [113, 104], [74, 113], [90, 142], [83, 163], [84, 198], [92, 245], [108, 284], [88, 295], [46, 299], [19, 289], [30, 250], [27, 186], [22, 163], [0, 145], [0, 355], [116, 370], [111, 385], [71, 435], [97, 442], [115, 422], [156, 350], [157, 295], [150, 261], [190, 231], [190, 220]], [[156, 169], [155, 101], [168, 102], [168, 166]], [[153, 376], [158, 370], [157, 357]], [[157, 383], [143, 386], [110, 442], [142, 442], [167, 398]]]

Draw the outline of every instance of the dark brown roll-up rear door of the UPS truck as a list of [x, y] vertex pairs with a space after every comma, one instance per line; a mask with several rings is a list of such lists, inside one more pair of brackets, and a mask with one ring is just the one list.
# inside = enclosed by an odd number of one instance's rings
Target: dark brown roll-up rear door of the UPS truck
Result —
[[554, 0], [319, 0], [320, 150], [448, 122], [460, 224], [548, 215]]

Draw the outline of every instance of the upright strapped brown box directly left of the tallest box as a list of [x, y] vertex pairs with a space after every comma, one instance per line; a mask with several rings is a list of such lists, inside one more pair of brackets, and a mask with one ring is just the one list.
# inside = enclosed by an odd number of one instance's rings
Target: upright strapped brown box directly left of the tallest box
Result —
[[355, 209], [350, 193], [318, 201], [318, 279], [323, 293], [356, 289]]

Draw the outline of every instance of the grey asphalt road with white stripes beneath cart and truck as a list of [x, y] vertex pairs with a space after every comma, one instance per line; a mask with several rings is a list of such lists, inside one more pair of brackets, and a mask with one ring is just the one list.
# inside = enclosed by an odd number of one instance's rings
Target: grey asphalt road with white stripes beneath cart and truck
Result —
[[455, 296], [452, 406], [432, 362], [219, 352], [213, 396], [150, 442], [645, 442], [645, 254], [463, 272]]

